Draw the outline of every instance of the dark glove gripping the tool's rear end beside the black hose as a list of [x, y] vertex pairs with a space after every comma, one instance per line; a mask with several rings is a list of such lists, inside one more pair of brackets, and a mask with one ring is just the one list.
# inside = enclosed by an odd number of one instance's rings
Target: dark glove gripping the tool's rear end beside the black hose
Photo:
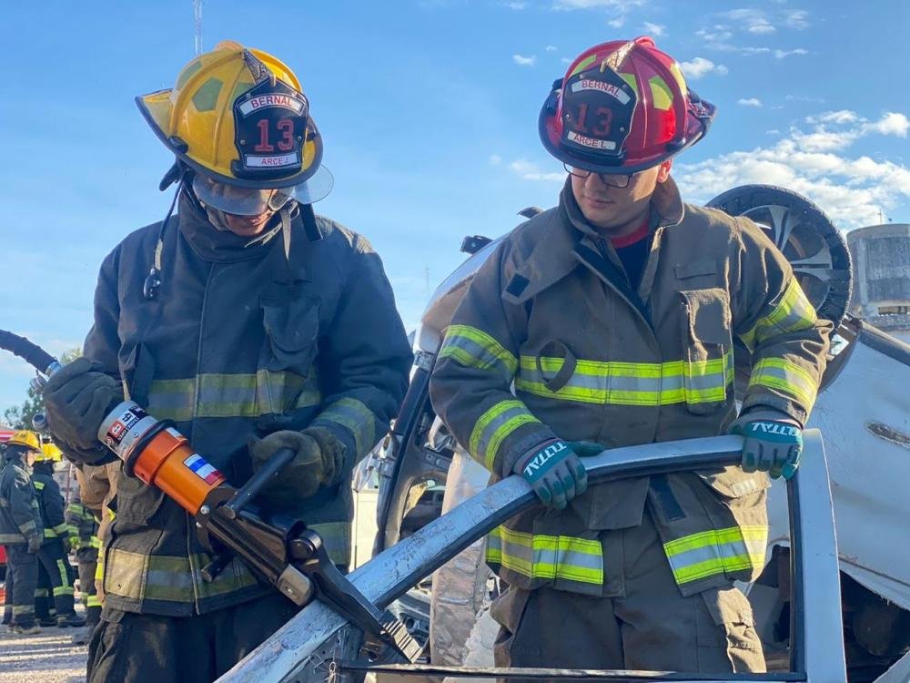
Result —
[[117, 403], [123, 387], [87, 358], [77, 358], [45, 385], [47, 426], [56, 439], [77, 449], [94, 450], [98, 427]]

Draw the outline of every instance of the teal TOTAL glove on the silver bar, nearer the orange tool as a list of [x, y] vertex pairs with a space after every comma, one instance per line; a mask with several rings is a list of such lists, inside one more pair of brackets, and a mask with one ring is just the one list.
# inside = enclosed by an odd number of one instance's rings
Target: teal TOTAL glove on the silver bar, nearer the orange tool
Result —
[[564, 510], [572, 498], [588, 488], [584, 465], [571, 446], [559, 439], [531, 449], [519, 458], [512, 472], [531, 484], [543, 505], [556, 510]]

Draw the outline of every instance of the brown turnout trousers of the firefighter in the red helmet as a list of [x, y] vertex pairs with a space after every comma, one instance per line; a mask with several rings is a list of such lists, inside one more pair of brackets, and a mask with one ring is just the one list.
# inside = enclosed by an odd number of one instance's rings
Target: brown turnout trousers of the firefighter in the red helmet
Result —
[[[496, 666], [650, 669], [682, 673], [763, 672], [752, 607], [733, 585], [683, 597], [652, 522], [604, 532], [605, 586], [615, 595], [584, 596], [542, 587], [510, 587], [490, 608], [500, 624]], [[609, 542], [608, 542], [609, 541]], [[605, 569], [606, 569], [605, 567]]]

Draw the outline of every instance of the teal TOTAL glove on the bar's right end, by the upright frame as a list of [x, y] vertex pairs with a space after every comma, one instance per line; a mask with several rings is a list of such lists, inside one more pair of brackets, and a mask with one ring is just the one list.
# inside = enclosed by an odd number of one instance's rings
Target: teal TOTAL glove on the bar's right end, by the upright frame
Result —
[[743, 436], [743, 472], [767, 472], [790, 479], [803, 453], [803, 429], [785, 413], [754, 411], [740, 416], [731, 433]]

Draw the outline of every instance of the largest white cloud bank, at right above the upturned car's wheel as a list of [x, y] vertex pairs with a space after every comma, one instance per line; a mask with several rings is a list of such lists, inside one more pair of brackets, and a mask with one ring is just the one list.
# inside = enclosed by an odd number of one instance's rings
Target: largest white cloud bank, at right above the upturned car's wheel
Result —
[[768, 147], [677, 164], [684, 195], [707, 201], [739, 185], [781, 185], [812, 199], [844, 229], [876, 223], [879, 208], [894, 209], [910, 200], [910, 168], [867, 156], [854, 158], [848, 151], [867, 135], [910, 134], [910, 121], [903, 114], [886, 113], [874, 122], [846, 110], [810, 118], [812, 129], [792, 128]]

